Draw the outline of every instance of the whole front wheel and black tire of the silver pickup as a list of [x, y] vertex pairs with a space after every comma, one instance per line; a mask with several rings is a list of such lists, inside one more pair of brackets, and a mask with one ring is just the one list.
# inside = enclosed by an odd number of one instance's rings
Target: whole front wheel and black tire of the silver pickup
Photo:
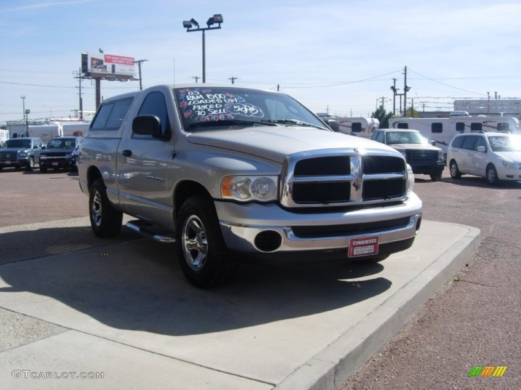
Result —
[[235, 269], [213, 202], [196, 195], [182, 204], [177, 218], [179, 265], [190, 283], [199, 288], [230, 281]]

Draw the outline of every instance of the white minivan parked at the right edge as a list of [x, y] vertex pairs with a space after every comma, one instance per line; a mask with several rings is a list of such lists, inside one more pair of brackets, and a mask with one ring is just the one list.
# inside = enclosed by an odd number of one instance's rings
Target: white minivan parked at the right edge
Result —
[[521, 135], [458, 134], [451, 140], [447, 161], [453, 179], [470, 174], [487, 178], [490, 185], [521, 180]]

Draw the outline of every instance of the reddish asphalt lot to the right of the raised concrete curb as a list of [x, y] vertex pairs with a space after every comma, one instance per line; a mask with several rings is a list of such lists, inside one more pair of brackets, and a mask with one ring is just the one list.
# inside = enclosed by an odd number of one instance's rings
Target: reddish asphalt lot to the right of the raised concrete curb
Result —
[[[521, 184], [447, 171], [438, 183], [416, 176], [424, 218], [478, 227], [479, 250], [337, 390], [521, 389]], [[473, 366], [508, 368], [469, 378]]]

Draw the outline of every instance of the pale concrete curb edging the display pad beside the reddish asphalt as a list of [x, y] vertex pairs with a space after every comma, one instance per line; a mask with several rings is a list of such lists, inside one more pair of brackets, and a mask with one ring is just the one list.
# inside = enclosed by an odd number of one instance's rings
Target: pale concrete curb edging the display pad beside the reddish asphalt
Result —
[[335, 390], [362, 367], [477, 250], [480, 230], [452, 225], [467, 228], [468, 232], [363, 321], [346, 330], [274, 389]]

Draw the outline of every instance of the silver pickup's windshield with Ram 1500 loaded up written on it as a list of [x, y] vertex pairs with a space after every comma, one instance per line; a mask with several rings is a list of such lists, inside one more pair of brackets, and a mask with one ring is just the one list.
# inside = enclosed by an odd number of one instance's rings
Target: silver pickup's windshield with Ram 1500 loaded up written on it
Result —
[[191, 87], [173, 93], [185, 131], [220, 126], [312, 126], [328, 129], [311, 111], [286, 94], [249, 88]]

